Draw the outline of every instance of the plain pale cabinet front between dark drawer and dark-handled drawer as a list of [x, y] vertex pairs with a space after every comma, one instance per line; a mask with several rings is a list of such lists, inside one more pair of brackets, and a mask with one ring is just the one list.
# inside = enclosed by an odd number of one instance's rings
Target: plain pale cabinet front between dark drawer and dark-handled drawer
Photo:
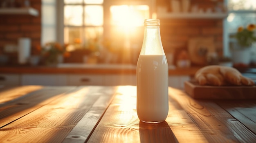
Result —
[[22, 74], [21, 85], [65, 86], [65, 74]]

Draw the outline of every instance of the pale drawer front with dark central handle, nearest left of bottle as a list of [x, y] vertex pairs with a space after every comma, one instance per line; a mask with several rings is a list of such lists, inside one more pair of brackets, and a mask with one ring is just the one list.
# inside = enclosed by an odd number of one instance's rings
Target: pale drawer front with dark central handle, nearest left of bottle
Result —
[[67, 75], [68, 86], [84, 86], [84, 85], [103, 85], [103, 75], [82, 75], [82, 74], [70, 74]]

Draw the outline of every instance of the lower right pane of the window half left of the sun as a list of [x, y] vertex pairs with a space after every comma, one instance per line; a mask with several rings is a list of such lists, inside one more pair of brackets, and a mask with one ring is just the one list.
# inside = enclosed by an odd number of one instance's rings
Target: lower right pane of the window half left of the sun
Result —
[[103, 35], [103, 27], [87, 27], [85, 28], [85, 48], [89, 48], [90, 51], [99, 50], [99, 42]]

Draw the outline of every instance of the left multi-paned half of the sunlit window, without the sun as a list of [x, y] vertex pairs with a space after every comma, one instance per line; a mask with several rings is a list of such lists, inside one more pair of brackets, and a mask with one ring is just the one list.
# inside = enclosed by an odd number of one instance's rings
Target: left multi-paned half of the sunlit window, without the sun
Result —
[[83, 48], [102, 37], [103, 0], [64, 0], [63, 5], [64, 43]]

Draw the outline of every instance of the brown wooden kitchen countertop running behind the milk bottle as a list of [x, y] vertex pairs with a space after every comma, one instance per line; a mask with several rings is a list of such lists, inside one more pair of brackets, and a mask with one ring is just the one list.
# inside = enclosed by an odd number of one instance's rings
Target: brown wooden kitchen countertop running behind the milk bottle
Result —
[[[169, 66], [169, 75], [194, 75], [201, 67], [175, 68]], [[49, 66], [3, 66], [0, 73], [13, 74], [136, 74], [136, 65], [121, 64], [59, 64]]]

